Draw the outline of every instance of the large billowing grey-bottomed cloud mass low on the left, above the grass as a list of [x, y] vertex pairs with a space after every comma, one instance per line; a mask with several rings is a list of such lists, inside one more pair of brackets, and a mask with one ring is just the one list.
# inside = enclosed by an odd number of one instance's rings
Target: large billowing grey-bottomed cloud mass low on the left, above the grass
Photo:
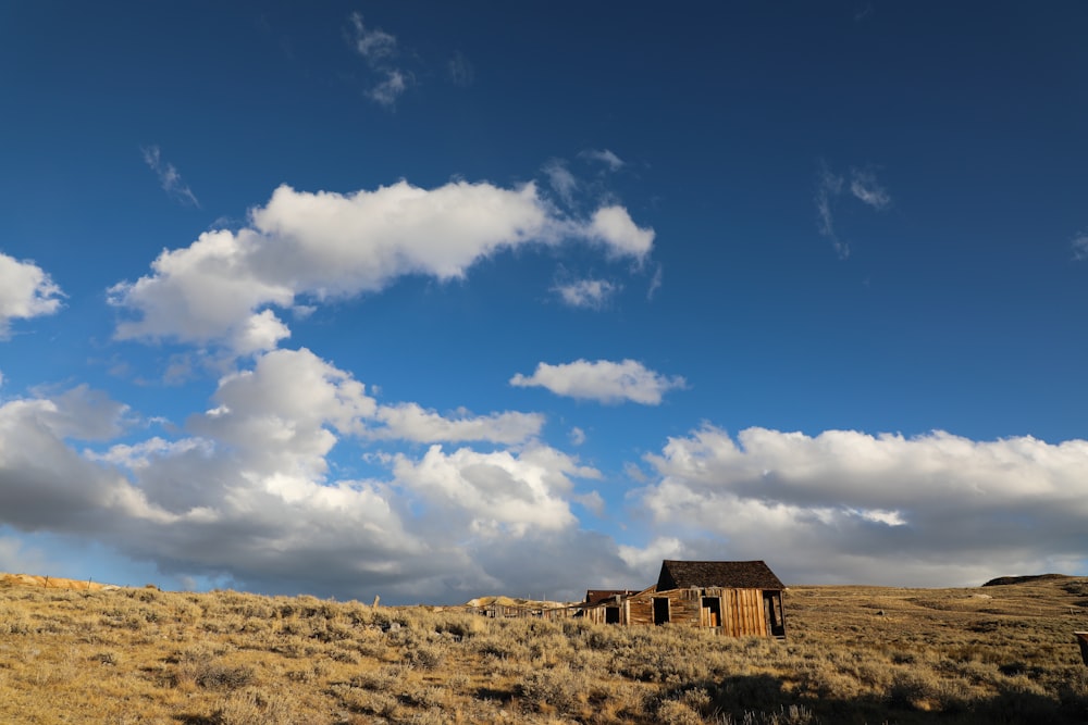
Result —
[[[650, 574], [635, 576], [614, 542], [579, 526], [571, 505], [599, 508], [581, 485], [601, 474], [539, 442], [433, 446], [374, 457], [385, 465], [376, 478], [338, 475], [333, 450], [366, 442], [381, 410], [361, 383], [305, 349], [258, 355], [224, 376], [174, 440], [82, 454], [64, 441], [100, 438], [124, 410], [82, 388], [0, 404], [0, 524], [83, 537], [178, 577], [392, 602], [454, 603], [541, 582], [577, 597], [586, 577], [605, 586]], [[74, 430], [81, 411], [94, 420]], [[504, 414], [465, 421], [536, 425]], [[456, 435], [478, 435], [457, 425]]]

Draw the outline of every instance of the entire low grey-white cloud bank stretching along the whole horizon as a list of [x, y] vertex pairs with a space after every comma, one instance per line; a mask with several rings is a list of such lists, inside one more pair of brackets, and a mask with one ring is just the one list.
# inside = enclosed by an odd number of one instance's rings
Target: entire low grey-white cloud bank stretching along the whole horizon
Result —
[[[369, 454], [384, 473], [338, 475], [332, 450], [364, 450], [371, 426], [388, 425], [382, 410], [305, 349], [225, 375], [173, 440], [96, 452], [129, 411], [86, 387], [9, 400], [0, 523], [82, 537], [177, 576], [391, 602], [541, 582], [579, 598], [590, 586], [647, 583], [662, 558], [763, 559], [792, 584], [972, 586], [1084, 566], [1084, 440], [766, 428], [733, 438], [707, 425], [642, 461], [646, 478], [626, 503], [643, 522], [631, 543], [592, 530], [582, 513], [617, 513], [593, 488], [605, 474], [524, 430], [516, 445], [478, 450], [456, 441], [456, 421], [435, 425], [413, 410], [406, 437], [455, 442]], [[420, 435], [417, 418], [446, 433]]]

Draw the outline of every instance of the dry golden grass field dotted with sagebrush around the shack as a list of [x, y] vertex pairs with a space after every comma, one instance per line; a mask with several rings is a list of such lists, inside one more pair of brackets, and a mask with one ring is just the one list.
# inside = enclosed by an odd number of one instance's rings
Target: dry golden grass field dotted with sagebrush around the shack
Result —
[[0, 723], [1085, 723], [1088, 579], [793, 587], [786, 641], [0, 578]]

